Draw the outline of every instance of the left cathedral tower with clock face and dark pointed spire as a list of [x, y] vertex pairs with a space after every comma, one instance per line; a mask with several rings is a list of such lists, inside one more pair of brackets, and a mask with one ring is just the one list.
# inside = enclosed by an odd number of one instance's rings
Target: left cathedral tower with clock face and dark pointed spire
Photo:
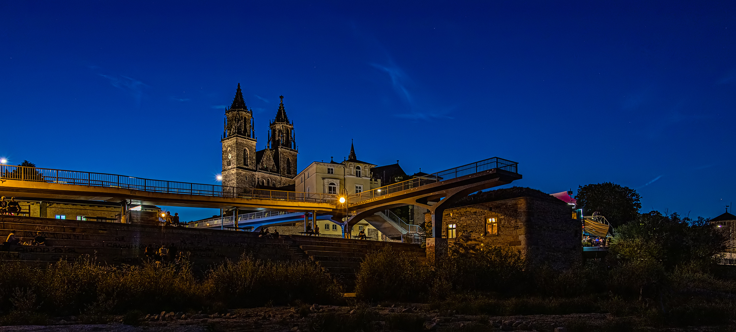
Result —
[[243, 93], [236, 90], [233, 104], [225, 109], [222, 133], [222, 185], [255, 187], [256, 151], [253, 112], [245, 106]]

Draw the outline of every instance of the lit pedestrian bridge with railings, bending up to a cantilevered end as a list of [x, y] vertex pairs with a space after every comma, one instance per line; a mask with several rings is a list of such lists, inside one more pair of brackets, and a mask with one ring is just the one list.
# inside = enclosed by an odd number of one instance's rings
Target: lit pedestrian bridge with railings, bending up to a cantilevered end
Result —
[[[418, 205], [433, 215], [439, 206], [478, 190], [509, 184], [521, 178], [517, 162], [490, 158], [419, 176], [396, 184], [359, 192], [342, 200], [338, 195], [286, 192], [153, 180], [107, 173], [0, 165], [0, 195], [115, 201], [142, 205], [234, 207], [286, 212], [318, 212], [347, 225], [386, 209]], [[355, 218], [358, 218], [355, 220]]]

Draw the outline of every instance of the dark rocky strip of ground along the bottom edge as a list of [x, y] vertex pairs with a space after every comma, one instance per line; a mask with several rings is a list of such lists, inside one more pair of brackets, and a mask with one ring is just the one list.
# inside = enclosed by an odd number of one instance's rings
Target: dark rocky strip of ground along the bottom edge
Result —
[[[648, 327], [632, 318], [609, 314], [529, 315], [488, 317], [431, 310], [423, 304], [392, 307], [301, 306], [234, 309], [213, 313], [158, 312], [146, 314], [134, 325], [124, 317], [108, 317], [107, 324], [82, 324], [77, 317], [57, 317], [49, 325], [2, 326], [0, 332], [205, 332], [205, 331], [736, 331], [730, 325], [662, 328]], [[130, 318], [127, 322], [130, 322]], [[135, 325], [137, 324], [137, 325]]]

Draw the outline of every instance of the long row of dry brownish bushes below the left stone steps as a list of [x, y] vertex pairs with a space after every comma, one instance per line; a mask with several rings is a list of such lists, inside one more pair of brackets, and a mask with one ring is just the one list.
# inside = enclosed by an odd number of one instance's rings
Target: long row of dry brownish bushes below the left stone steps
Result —
[[186, 264], [109, 267], [88, 258], [38, 269], [0, 263], [2, 325], [44, 324], [49, 317], [66, 315], [106, 322], [111, 314], [127, 314], [124, 320], [132, 321], [143, 312], [328, 303], [340, 297], [339, 286], [313, 264], [250, 256], [228, 261], [201, 278]]

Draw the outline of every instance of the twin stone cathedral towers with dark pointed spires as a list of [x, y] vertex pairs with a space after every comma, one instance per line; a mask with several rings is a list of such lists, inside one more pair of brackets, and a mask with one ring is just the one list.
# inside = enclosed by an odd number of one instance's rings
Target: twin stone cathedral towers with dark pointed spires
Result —
[[255, 150], [253, 112], [245, 106], [243, 93], [236, 90], [233, 104], [225, 109], [222, 133], [222, 185], [241, 188], [294, 190], [297, 176], [297, 143], [294, 123], [283, 107], [283, 95], [276, 118], [269, 121], [266, 148]]

